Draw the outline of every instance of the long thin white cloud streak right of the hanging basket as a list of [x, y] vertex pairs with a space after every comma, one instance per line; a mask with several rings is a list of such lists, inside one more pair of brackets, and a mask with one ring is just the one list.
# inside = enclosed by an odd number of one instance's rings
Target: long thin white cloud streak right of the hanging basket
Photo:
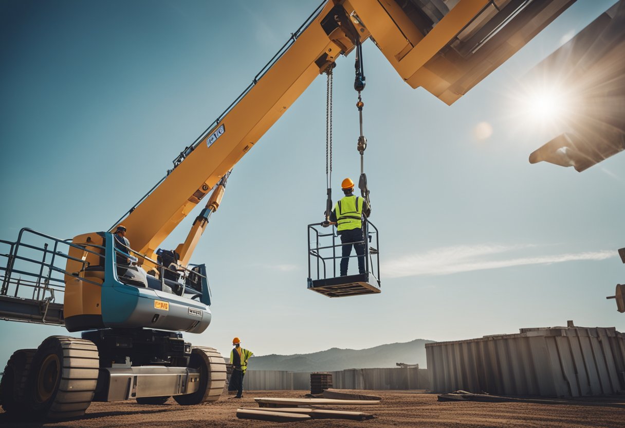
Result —
[[387, 277], [401, 278], [450, 275], [451, 273], [472, 272], [474, 270], [523, 265], [546, 265], [579, 260], [605, 260], [606, 258], [616, 257], [616, 252], [612, 250], [537, 257], [515, 257], [501, 260], [489, 260], [486, 257], [530, 247], [536, 247], [536, 245], [462, 245], [436, 248], [426, 253], [407, 255], [392, 262], [383, 263], [382, 271]]

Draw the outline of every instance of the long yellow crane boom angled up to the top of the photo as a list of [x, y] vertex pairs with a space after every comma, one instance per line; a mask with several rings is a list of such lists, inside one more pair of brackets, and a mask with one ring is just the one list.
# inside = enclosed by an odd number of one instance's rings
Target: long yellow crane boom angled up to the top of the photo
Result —
[[[153, 258], [163, 240], [312, 81], [354, 49], [354, 34], [361, 42], [371, 38], [412, 88], [422, 86], [451, 104], [574, 0], [428, 3], [327, 1], [249, 91], [122, 220], [133, 248]], [[76, 238], [79, 242], [82, 237]]]

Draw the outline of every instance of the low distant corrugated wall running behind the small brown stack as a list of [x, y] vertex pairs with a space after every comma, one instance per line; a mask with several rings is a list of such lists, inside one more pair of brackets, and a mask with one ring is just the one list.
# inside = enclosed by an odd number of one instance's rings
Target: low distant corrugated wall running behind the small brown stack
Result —
[[[428, 389], [427, 369], [349, 369], [332, 374], [332, 385], [337, 389], [406, 390]], [[247, 370], [243, 379], [246, 390], [309, 390], [310, 372], [282, 372], [279, 370]]]

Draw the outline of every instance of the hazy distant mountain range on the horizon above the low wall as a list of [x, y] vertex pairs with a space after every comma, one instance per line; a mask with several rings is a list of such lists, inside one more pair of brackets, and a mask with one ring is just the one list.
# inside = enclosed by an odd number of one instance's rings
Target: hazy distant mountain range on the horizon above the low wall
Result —
[[425, 344], [434, 340], [379, 345], [368, 349], [339, 349], [312, 354], [263, 355], [249, 360], [250, 370], [286, 370], [289, 372], [333, 372], [344, 369], [397, 367], [396, 363], [419, 364], [426, 368]]

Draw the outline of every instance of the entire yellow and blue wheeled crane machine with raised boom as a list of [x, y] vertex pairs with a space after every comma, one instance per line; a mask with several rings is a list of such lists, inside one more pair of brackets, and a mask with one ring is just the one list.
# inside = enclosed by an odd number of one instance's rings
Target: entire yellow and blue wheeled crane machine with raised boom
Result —
[[[452, 104], [572, 3], [321, 4], [176, 157], [173, 169], [109, 230], [70, 241], [23, 229], [16, 242], [0, 242], [6, 248], [0, 316], [83, 332], [81, 339], [53, 336], [37, 349], [14, 352], [0, 384], [4, 410], [66, 418], [83, 415], [93, 400], [155, 404], [173, 396], [182, 405], [217, 400], [226, 380], [224, 360], [214, 349], [185, 342], [180, 332], [201, 333], [211, 321], [206, 268], [189, 260], [232, 166], [319, 74], [339, 56], [359, 51], [367, 39], [409, 86], [422, 86]], [[159, 249], [211, 190], [186, 242], [175, 250]], [[121, 224], [134, 250], [116, 246], [111, 232]], [[132, 257], [134, 265], [123, 263]], [[61, 292], [63, 305], [55, 301]]]

